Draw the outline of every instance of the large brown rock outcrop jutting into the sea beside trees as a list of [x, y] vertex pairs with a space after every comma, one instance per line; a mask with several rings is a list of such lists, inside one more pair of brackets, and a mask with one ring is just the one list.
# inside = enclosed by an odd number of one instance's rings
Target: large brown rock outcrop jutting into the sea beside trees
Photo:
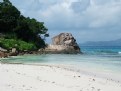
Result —
[[76, 39], [71, 33], [60, 33], [52, 38], [52, 45], [48, 45], [47, 52], [52, 53], [81, 53]]

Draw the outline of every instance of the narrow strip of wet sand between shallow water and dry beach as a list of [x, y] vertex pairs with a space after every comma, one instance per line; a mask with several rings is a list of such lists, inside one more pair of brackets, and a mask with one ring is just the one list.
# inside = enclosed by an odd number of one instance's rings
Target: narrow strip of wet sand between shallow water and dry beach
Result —
[[97, 72], [98, 70], [90, 70], [90, 69], [85, 69], [85, 68], [78, 68], [74, 65], [68, 65], [68, 64], [51, 64], [51, 63], [8, 63], [8, 62], [1, 62], [0, 64], [11, 64], [11, 65], [28, 65], [28, 66], [45, 66], [45, 67], [55, 67], [55, 68], [62, 68], [67, 71], [73, 71], [73, 72], [78, 72], [83, 75], [89, 75], [89, 76], [94, 76], [97, 78], [102, 78], [102, 79], [108, 79], [112, 80], [116, 83], [121, 83], [121, 73], [106, 73], [106, 72]]

